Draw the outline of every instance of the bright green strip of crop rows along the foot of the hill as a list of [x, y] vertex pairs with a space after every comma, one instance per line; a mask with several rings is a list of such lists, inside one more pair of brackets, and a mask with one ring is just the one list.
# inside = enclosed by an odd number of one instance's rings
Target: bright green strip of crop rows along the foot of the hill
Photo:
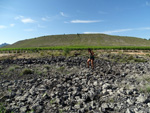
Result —
[[[14, 51], [14, 50], [22, 50], [24, 51], [33, 51], [34, 50], [64, 50], [64, 54], [69, 54], [72, 50], [87, 50], [88, 48], [91, 48], [93, 50], [150, 50], [150, 47], [125, 47], [125, 46], [62, 46], [62, 47], [38, 47], [38, 48], [3, 48], [0, 49], [0, 52], [6, 52], [7, 51]], [[44, 56], [45, 53], [41, 53], [41, 56]]]

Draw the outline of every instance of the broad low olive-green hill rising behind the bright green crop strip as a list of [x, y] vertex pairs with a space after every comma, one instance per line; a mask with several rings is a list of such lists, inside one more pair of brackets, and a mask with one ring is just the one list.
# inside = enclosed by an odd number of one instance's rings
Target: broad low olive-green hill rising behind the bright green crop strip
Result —
[[50, 35], [18, 41], [5, 48], [52, 47], [52, 46], [150, 46], [150, 41], [125, 36], [105, 34]]

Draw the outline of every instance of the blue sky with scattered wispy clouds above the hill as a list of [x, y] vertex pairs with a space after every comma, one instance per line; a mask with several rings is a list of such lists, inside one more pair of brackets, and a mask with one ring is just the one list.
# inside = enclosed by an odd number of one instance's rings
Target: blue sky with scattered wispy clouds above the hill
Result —
[[150, 0], [0, 0], [0, 44], [77, 33], [150, 39]]

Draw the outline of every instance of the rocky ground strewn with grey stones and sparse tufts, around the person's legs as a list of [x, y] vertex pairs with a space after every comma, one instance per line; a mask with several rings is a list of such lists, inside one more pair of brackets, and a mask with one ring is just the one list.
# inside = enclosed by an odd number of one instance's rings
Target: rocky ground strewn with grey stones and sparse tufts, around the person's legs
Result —
[[101, 55], [0, 60], [0, 113], [150, 113], [150, 61]]

